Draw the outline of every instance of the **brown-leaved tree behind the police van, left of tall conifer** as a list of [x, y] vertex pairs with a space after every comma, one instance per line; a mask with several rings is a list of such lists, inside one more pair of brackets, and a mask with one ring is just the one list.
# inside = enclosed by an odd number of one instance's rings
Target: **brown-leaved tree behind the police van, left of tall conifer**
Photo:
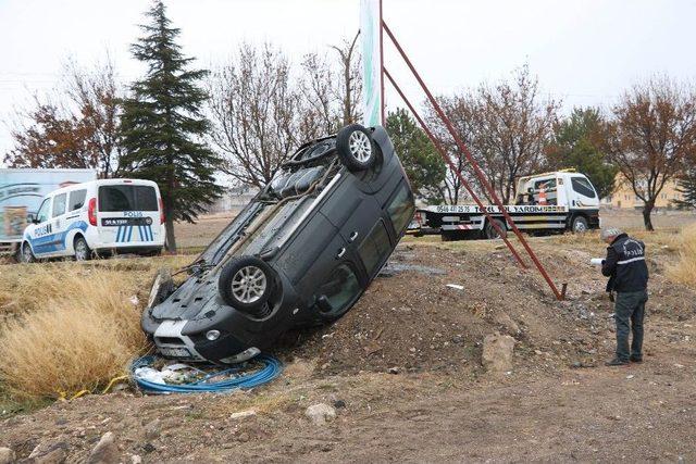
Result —
[[14, 148], [4, 162], [13, 167], [96, 168], [100, 177], [117, 170], [119, 101], [113, 63], [80, 68], [69, 61], [55, 90], [34, 96], [33, 108], [17, 112]]

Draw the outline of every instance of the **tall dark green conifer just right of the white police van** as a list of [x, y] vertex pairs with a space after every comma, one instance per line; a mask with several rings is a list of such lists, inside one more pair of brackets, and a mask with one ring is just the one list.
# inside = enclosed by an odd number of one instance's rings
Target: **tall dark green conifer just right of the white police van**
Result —
[[156, 1], [141, 25], [145, 37], [132, 46], [147, 63], [142, 80], [130, 87], [123, 103], [122, 163], [129, 176], [158, 183], [166, 217], [166, 249], [176, 251], [174, 221], [194, 222], [222, 192], [215, 185], [219, 158], [202, 142], [209, 122], [201, 105], [207, 93], [198, 81], [207, 71], [189, 71], [176, 43], [179, 29], [171, 26], [164, 4]]

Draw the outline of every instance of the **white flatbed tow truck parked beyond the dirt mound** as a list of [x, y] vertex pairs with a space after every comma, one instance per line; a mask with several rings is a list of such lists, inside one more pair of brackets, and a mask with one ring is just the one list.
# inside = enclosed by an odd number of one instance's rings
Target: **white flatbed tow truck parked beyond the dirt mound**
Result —
[[[444, 241], [496, 239], [510, 225], [496, 205], [484, 206], [490, 221], [475, 204], [439, 204], [417, 210], [408, 234], [439, 234]], [[599, 196], [589, 179], [574, 170], [520, 177], [514, 204], [504, 205], [517, 227], [530, 235], [584, 233], [600, 227]]]

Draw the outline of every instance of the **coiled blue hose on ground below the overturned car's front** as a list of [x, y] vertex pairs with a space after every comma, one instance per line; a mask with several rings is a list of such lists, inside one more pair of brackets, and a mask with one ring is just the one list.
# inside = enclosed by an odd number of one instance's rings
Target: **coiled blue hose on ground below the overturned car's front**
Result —
[[240, 388], [253, 388], [266, 384], [283, 371], [281, 362], [268, 354], [260, 354], [252, 360], [262, 364], [261, 369], [252, 374], [239, 375], [236, 377], [225, 378], [224, 380], [210, 381], [211, 378], [235, 374], [241, 371], [241, 367], [231, 367], [225, 371], [215, 372], [204, 376], [202, 379], [190, 384], [158, 384], [154, 381], [138, 378], [135, 371], [138, 367], [148, 367], [154, 361], [154, 356], [144, 356], [134, 361], [130, 365], [130, 377], [142, 390], [149, 393], [198, 393], [198, 392], [228, 392]]

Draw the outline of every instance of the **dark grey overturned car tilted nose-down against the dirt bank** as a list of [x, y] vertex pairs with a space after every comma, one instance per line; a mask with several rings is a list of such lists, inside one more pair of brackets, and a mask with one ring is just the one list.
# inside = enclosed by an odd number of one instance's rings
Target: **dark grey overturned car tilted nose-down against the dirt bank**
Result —
[[343, 316], [413, 216], [384, 128], [350, 125], [300, 147], [176, 288], [156, 277], [142, 329], [160, 354], [235, 363], [296, 327]]

